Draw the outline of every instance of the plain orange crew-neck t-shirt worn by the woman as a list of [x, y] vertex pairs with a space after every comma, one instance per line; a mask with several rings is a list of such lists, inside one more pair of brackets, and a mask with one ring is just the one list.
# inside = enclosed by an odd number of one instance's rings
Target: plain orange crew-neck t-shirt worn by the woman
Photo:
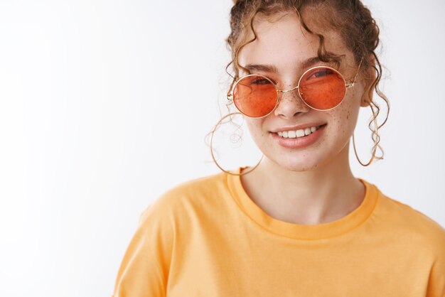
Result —
[[267, 215], [239, 176], [182, 183], [142, 213], [113, 296], [444, 297], [445, 229], [359, 180], [361, 205], [320, 225]]

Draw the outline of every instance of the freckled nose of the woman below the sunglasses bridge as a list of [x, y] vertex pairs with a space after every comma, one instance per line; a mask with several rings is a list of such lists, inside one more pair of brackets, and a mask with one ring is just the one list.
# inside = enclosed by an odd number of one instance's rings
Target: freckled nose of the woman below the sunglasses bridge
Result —
[[301, 112], [309, 112], [311, 107], [307, 106], [299, 95], [298, 89], [294, 88], [289, 91], [278, 91], [278, 106], [274, 111], [277, 117], [291, 119]]

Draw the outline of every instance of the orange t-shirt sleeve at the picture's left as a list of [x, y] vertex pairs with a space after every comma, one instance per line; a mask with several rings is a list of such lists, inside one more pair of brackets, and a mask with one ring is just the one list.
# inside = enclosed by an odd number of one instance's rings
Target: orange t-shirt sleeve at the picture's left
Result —
[[112, 297], [166, 296], [171, 225], [156, 202], [141, 213], [139, 226], [119, 267]]

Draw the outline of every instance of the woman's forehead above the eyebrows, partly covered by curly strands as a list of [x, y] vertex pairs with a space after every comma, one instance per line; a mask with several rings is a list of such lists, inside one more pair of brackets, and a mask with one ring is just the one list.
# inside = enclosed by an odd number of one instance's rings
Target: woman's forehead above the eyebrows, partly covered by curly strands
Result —
[[[328, 52], [346, 55], [345, 59], [352, 57], [352, 53], [345, 47], [336, 31], [326, 28], [321, 31], [311, 26], [310, 21], [306, 23], [309, 28], [323, 34]], [[303, 67], [304, 61], [317, 57], [319, 38], [301, 27], [296, 13], [286, 13], [272, 21], [256, 18], [254, 30], [257, 39], [240, 50], [238, 61], [242, 66], [268, 64], [274, 65], [280, 72], [286, 72]], [[252, 32], [248, 34], [247, 40], [253, 38]]]

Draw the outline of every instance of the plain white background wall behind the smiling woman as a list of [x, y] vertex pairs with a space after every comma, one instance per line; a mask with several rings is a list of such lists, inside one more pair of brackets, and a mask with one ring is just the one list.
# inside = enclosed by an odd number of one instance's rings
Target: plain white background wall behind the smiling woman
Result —
[[[219, 172], [204, 138], [229, 80], [231, 4], [0, 1], [0, 296], [111, 296], [145, 207]], [[444, 1], [365, 4], [392, 109], [385, 160], [351, 154], [353, 171], [444, 226]]]

